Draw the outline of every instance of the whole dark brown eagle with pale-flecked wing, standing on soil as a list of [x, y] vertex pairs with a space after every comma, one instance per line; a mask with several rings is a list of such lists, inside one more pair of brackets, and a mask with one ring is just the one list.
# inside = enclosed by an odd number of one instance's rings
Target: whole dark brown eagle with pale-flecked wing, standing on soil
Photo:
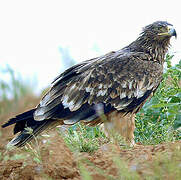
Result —
[[[8, 145], [24, 146], [56, 125], [103, 124], [134, 145], [135, 114], [152, 97], [163, 75], [173, 25], [156, 21], [128, 46], [76, 64], [61, 73], [37, 107], [2, 125], [15, 124]], [[29, 133], [28, 129], [32, 130]]]

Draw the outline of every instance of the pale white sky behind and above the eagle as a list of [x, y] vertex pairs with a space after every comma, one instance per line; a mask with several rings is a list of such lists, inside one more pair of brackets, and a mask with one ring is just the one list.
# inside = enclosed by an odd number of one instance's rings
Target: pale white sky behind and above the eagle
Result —
[[170, 49], [176, 64], [181, 55], [179, 12], [176, 0], [0, 1], [0, 79], [8, 83], [11, 68], [39, 94], [65, 68], [121, 49], [157, 20], [177, 30]]

